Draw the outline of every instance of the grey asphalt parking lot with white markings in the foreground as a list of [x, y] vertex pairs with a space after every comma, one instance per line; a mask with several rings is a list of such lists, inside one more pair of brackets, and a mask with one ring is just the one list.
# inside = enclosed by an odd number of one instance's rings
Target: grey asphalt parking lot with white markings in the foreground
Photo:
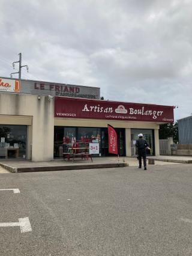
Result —
[[0, 190], [0, 255], [192, 255], [191, 184], [190, 164], [0, 174], [20, 192]]

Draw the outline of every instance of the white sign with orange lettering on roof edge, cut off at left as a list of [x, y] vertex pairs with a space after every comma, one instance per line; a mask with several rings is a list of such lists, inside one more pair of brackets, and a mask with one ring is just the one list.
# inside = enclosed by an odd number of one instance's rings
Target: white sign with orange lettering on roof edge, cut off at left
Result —
[[14, 79], [0, 78], [0, 91], [19, 93], [20, 81]]

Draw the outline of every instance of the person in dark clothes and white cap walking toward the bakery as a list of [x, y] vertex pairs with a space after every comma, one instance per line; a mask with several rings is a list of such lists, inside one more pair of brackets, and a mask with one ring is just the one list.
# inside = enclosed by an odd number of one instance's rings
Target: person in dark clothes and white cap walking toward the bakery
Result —
[[143, 157], [143, 165], [144, 169], [146, 170], [146, 148], [150, 150], [148, 142], [146, 142], [146, 139], [143, 138], [142, 133], [138, 135], [139, 139], [136, 141], [136, 147], [138, 150], [139, 155], [139, 168], [142, 168], [142, 157]]

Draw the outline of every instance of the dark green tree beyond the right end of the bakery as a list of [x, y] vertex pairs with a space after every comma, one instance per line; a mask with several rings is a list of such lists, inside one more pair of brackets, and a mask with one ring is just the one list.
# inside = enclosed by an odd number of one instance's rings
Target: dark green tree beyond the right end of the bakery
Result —
[[167, 123], [160, 124], [159, 138], [167, 139], [168, 137], [173, 137], [173, 141], [178, 142], [178, 123]]

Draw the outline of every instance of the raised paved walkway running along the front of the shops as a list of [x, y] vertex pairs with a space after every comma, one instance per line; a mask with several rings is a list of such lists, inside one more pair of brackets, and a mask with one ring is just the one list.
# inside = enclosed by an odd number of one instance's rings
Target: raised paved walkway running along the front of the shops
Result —
[[[148, 157], [155, 159], [155, 165], [170, 165], [178, 163], [192, 163], [192, 157]], [[178, 162], [179, 161], [179, 162]], [[187, 162], [188, 161], [188, 162]], [[115, 168], [126, 166], [138, 166], [138, 160], [134, 157], [95, 157], [91, 160], [75, 159], [74, 162], [67, 162], [63, 159], [55, 159], [47, 162], [23, 161], [2, 161], [0, 162], [0, 173], [2, 172], [29, 172], [29, 171], [59, 171], [69, 169], [94, 169], [94, 168]], [[8, 171], [7, 171], [8, 170]]]

